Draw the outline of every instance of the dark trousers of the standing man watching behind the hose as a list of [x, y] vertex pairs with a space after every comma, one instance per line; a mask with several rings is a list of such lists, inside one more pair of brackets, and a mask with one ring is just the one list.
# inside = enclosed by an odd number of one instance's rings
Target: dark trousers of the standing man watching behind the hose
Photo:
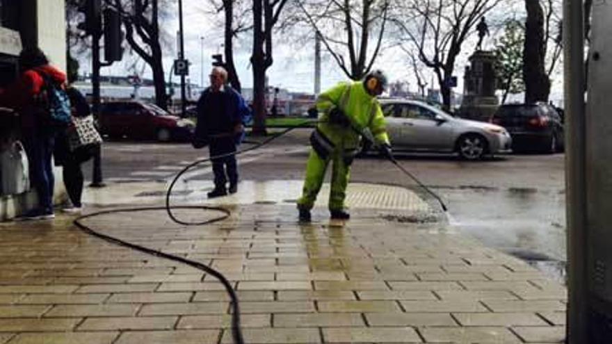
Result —
[[213, 173], [215, 175], [215, 188], [225, 189], [225, 183], [228, 179], [230, 186], [238, 183], [238, 166], [236, 164], [236, 142], [233, 137], [215, 138], [211, 140], [209, 145], [210, 156], [223, 156], [221, 158], [213, 158]]

